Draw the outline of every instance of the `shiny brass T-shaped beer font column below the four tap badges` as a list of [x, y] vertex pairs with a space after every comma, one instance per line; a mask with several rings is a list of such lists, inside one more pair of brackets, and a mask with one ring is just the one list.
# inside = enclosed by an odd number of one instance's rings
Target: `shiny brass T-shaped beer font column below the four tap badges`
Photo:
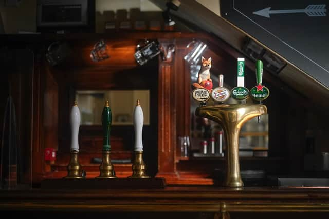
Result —
[[197, 116], [208, 118], [219, 123], [226, 140], [226, 178], [224, 186], [242, 187], [239, 165], [239, 135], [245, 122], [253, 117], [267, 114], [267, 108], [262, 104], [221, 104], [198, 107]]

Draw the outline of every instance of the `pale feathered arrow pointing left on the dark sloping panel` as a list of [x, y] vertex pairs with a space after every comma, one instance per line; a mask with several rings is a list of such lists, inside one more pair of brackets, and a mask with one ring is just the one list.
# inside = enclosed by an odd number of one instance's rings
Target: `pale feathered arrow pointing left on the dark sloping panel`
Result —
[[293, 10], [270, 10], [271, 7], [264, 8], [259, 11], [253, 12], [263, 17], [270, 17], [269, 14], [289, 14], [289, 13], [306, 13], [310, 17], [324, 17], [326, 16], [326, 5], [308, 5], [305, 9], [293, 9]]

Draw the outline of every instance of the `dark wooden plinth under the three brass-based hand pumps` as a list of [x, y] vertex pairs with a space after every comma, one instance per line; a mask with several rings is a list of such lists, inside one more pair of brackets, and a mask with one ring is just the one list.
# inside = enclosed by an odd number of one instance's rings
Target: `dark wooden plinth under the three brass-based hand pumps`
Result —
[[163, 189], [165, 178], [88, 178], [88, 179], [46, 179], [42, 189]]

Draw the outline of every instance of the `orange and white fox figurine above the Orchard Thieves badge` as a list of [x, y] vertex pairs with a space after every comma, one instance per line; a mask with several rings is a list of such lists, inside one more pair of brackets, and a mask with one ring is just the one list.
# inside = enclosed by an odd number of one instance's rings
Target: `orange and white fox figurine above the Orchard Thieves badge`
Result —
[[211, 57], [206, 59], [201, 57], [201, 69], [198, 73], [197, 83], [193, 83], [194, 88], [206, 88], [208, 90], [212, 89], [212, 79], [210, 78], [210, 68], [211, 68]]

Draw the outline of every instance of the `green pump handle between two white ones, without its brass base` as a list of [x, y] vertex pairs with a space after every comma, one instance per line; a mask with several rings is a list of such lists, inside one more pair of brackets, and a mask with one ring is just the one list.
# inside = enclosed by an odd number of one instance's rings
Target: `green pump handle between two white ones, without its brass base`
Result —
[[102, 112], [102, 126], [103, 126], [103, 151], [110, 151], [111, 145], [109, 144], [110, 132], [112, 125], [112, 112], [109, 108], [108, 101], [105, 102], [105, 106]]

